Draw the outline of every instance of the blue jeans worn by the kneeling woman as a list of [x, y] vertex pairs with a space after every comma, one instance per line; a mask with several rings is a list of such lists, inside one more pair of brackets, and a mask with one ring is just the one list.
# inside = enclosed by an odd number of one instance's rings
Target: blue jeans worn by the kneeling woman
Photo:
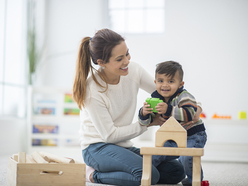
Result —
[[[95, 143], [83, 150], [83, 158], [88, 166], [95, 169], [95, 183], [120, 186], [141, 184], [143, 158], [139, 148]], [[177, 160], [161, 162], [161, 165], [158, 168], [152, 166], [151, 184], [176, 184], [185, 177], [183, 166]]]

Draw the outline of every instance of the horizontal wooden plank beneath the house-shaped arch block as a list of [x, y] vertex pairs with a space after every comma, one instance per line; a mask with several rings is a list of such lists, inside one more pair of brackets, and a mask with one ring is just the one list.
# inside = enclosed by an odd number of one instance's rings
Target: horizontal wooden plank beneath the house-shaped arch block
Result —
[[143, 155], [203, 156], [203, 148], [141, 147]]

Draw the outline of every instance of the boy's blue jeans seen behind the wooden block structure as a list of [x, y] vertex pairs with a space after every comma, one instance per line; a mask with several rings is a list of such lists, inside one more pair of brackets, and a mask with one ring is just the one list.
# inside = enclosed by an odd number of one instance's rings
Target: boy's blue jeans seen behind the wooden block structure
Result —
[[[192, 136], [187, 137], [187, 147], [188, 148], [204, 148], [207, 141], [207, 134], [205, 131], [197, 132]], [[177, 144], [172, 141], [166, 141], [164, 147], [177, 147]], [[184, 171], [192, 183], [192, 169], [193, 169], [193, 157], [192, 156], [152, 156], [152, 164], [155, 167], [161, 166], [161, 162], [171, 161], [173, 159], [179, 158], [179, 162], [182, 163]], [[203, 171], [201, 169], [201, 179], [203, 179]]]

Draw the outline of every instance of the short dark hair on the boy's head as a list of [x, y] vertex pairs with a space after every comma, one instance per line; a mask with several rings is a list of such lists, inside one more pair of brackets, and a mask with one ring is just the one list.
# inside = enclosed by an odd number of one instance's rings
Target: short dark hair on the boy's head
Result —
[[156, 75], [157, 74], [165, 74], [169, 77], [174, 77], [176, 72], [179, 72], [179, 76], [181, 78], [181, 81], [183, 80], [183, 69], [182, 65], [180, 65], [178, 62], [175, 61], [165, 61], [162, 63], [157, 64], [156, 68]]

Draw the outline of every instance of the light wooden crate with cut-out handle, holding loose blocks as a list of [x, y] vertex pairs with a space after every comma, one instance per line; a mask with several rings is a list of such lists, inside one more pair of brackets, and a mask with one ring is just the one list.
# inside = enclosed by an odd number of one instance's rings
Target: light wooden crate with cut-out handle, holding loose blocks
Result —
[[85, 186], [85, 164], [8, 160], [8, 186]]

